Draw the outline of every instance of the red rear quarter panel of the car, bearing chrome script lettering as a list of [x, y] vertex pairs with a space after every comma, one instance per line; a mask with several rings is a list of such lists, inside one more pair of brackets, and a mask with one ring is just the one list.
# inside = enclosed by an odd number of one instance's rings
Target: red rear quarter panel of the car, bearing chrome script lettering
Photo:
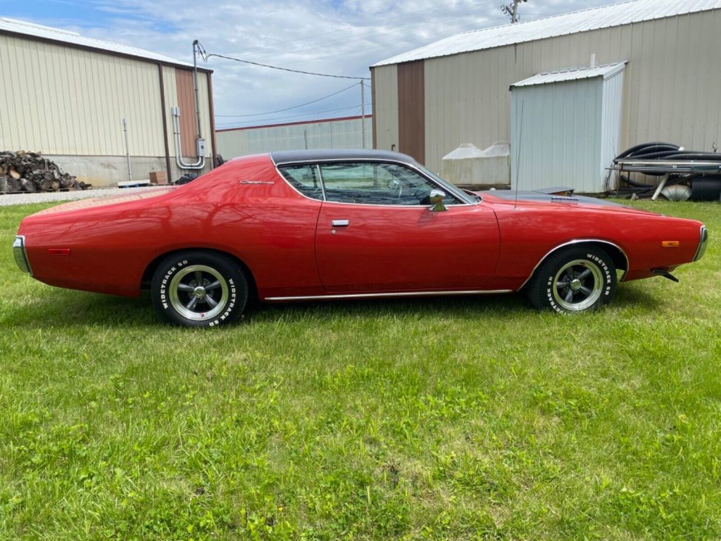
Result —
[[[260, 288], [319, 288], [313, 239], [320, 203], [284, 182], [267, 156], [229, 162], [166, 195], [27, 217], [28, 260], [53, 286], [137, 296], [156, 258], [186, 249], [228, 252]], [[49, 248], [69, 248], [52, 255]]]

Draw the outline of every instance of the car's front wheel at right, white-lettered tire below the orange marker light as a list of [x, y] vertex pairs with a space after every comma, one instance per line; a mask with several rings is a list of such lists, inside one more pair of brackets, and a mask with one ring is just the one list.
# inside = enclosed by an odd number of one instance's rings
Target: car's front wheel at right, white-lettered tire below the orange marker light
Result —
[[539, 309], [564, 314], [609, 304], [616, 291], [616, 266], [598, 247], [570, 248], [551, 255], [534, 273], [528, 298]]

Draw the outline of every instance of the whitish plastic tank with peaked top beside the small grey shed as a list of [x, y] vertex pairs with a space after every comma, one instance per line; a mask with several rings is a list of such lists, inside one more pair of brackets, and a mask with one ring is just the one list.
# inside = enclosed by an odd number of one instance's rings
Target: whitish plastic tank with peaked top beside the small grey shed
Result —
[[441, 177], [458, 186], [510, 184], [510, 145], [497, 141], [485, 150], [461, 144], [443, 157]]

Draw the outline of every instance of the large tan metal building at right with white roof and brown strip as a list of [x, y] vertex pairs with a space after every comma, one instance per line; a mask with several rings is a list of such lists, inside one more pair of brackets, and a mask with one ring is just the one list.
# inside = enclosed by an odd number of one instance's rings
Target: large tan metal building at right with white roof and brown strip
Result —
[[721, 147], [720, 28], [721, 0], [636, 0], [446, 38], [371, 66], [373, 144], [440, 172], [462, 143], [510, 141], [513, 84], [595, 55], [627, 62], [619, 151], [710, 151]]

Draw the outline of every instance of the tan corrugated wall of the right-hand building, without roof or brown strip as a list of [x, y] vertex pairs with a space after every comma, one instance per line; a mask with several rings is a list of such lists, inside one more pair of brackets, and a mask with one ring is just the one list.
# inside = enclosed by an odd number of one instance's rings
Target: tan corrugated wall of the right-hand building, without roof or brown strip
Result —
[[[425, 163], [438, 171], [461, 143], [508, 141], [510, 84], [588, 66], [591, 53], [598, 64], [629, 61], [619, 148], [672, 141], [710, 150], [721, 141], [719, 28], [721, 10], [714, 10], [425, 60]], [[372, 70], [382, 149], [397, 144], [398, 94], [387, 80], [393, 67]]]

